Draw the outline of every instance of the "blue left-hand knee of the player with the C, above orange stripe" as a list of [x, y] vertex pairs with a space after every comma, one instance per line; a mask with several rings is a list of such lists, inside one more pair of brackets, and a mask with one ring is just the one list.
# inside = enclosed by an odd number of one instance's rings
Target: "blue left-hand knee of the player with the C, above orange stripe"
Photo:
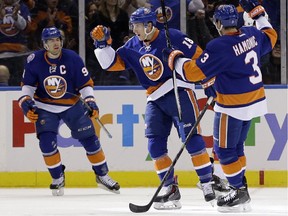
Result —
[[42, 153], [51, 153], [57, 149], [57, 134], [54, 132], [43, 132], [38, 135], [39, 146]]

